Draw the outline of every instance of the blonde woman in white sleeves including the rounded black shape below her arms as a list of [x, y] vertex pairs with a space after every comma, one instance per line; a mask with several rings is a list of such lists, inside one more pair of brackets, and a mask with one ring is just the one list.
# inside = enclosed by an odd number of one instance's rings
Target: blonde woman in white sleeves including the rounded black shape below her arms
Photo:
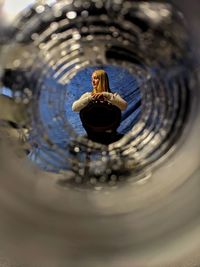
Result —
[[110, 144], [122, 137], [117, 128], [121, 121], [121, 111], [128, 104], [118, 93], [111, 91], [108, 75], [104, 70], [93, 72], [92, 85], [92, 92], [86, 92], [76, 100], [72, 110], [80, 112], [82, 125], [89, 139]]

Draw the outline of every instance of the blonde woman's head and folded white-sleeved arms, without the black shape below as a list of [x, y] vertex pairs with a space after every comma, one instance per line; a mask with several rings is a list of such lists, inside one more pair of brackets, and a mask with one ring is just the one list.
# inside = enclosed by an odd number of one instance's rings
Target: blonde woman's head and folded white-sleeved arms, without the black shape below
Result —
[[95, 70], [92, 74], [92, 92], [84, 93], [72, 104], [72, 110], [80, 112], [91, 101], [107, 101], [121, 111], [127, 108], [127, 102], [118, 94], [110, 90], [108, 75], [104, 70]]

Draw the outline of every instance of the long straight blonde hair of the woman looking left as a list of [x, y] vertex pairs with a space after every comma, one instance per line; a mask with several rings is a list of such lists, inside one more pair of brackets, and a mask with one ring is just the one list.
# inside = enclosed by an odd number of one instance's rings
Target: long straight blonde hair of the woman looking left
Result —
[[102, 93], [102, 92], [111, 93], [107, 73], [104, 70], [95, 70], [93, 74], [96, 74], [97, 77], [99, 78], [99, 84], [97, 88], [93, 88], [92, 93]]

